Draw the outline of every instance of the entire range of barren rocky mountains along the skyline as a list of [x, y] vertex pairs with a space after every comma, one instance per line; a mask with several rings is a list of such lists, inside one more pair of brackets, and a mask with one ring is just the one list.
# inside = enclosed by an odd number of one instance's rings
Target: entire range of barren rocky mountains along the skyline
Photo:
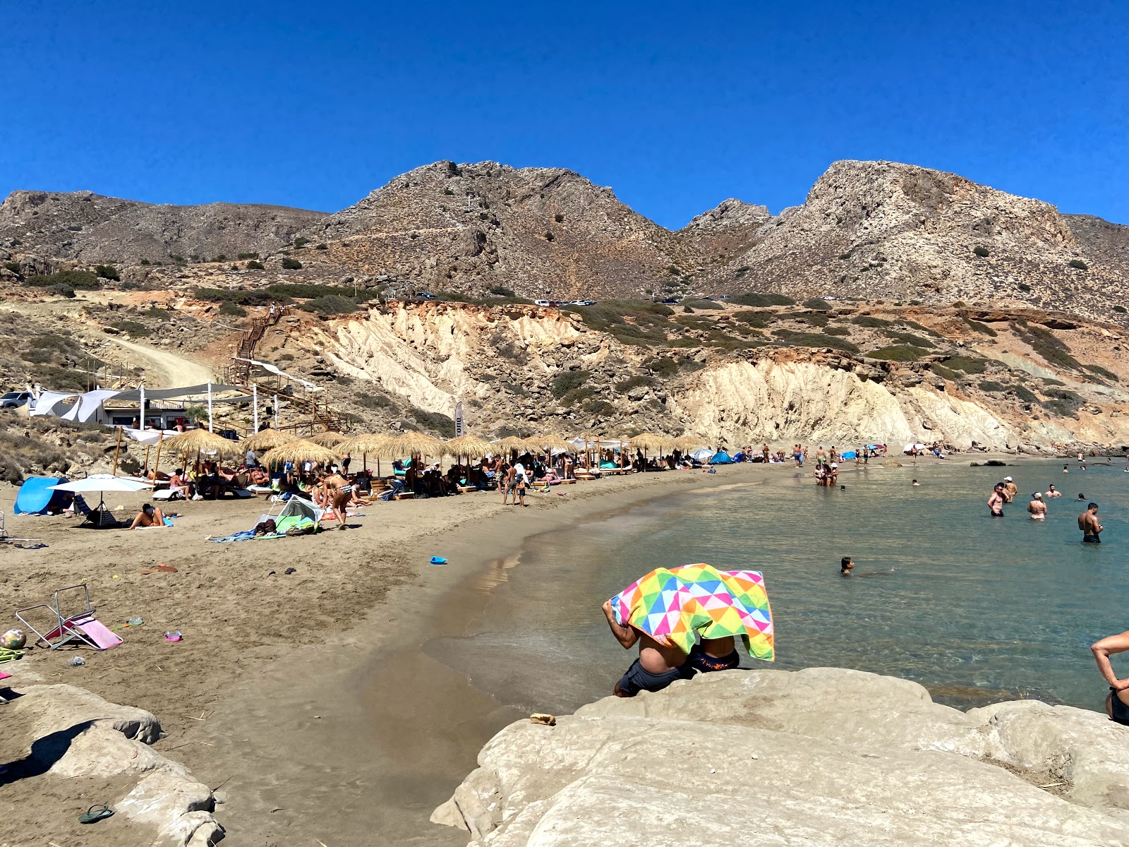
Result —
[[[837, 161], [803, 206], [730, 199], [667, 230], [562, 168], [440, 161], [334, 215], [259, 206], [150, 206], [15, 192], [0, 259], [165, 262], [306, 245], [304, 277], [367, 276], [406, 290], [577, 299], [780, 291], [1066, 309], [1123, 320], [1129, 227], [1060, 215], [955, 174]], [[170, 278], [166, 274], [164, 278]]]

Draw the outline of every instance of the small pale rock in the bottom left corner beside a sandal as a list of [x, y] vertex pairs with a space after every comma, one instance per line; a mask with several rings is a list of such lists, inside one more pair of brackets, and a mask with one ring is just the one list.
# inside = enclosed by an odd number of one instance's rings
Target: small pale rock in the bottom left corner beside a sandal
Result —
[[10, 776], [135, 776], [110, 798], [115, 814], [150, 829], [154, 847], [210, 847], [224, 838], [216, 800], [180, 762], [150, 748], [160, 724], [143, 709], [107, 702], [75, 686], [30, 686], [3, 707], [5, 732], [20, 735], [27, 754]]

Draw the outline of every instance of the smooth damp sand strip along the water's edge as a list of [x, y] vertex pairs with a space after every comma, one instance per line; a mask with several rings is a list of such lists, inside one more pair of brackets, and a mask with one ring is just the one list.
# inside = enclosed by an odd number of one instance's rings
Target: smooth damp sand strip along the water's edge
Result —
[[[265, 842], [297, 832], [326, 844], [368, 844], [373, 832], [382, 842], [464, 842], [430, 823], [430, 813], [474, 767], [490, 735], [522, 714], [428, 657], [423, 641], [473, 617], [461, 599], [488, 590], [530, 539], [657, 498], [755, 484], [768, 475], [759, 465], [737, 468], [745, 480], [725, 472], [602, 480], [598, 489], [552, 508], [462, 522], [413, 542], [405, 559], [425, 562], [438, 553], [450, 564], [422, 566], [351, 629], [270, 662], [217, 704], [227, 715], [222, 730], [203, 723], [187, 736], [213, 745], [186, 748], [192, 756], [185, 763], [203, 781], [244, 774], [242, 784], [228, 784], [224, 807], [233, 842], [242, 842], [240, 832]], [[749, 472], [755, 468], [762, 473]], [[285, 741], [253, 741], [271, 734]]]

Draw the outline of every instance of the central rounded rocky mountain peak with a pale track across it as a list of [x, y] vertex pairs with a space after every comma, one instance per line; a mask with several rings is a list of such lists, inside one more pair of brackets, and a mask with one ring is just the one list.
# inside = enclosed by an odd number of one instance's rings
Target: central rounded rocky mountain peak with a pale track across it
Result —
[[323, 260], [420, 288], [530, 297], [639, 294], [697, 256], [611, 189], [562, 168], [436, 163], [397, 176], [303, 235]]

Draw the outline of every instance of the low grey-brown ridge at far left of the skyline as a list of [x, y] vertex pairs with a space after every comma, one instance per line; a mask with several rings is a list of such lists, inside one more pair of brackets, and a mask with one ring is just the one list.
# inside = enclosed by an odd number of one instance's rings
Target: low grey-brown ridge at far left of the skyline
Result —
[[0, 203], [0, 248], [120, 264], [234, 259], [279, 250], [324, 217], [281, 206], [156, 206], [88, 191], [14, 191]]

